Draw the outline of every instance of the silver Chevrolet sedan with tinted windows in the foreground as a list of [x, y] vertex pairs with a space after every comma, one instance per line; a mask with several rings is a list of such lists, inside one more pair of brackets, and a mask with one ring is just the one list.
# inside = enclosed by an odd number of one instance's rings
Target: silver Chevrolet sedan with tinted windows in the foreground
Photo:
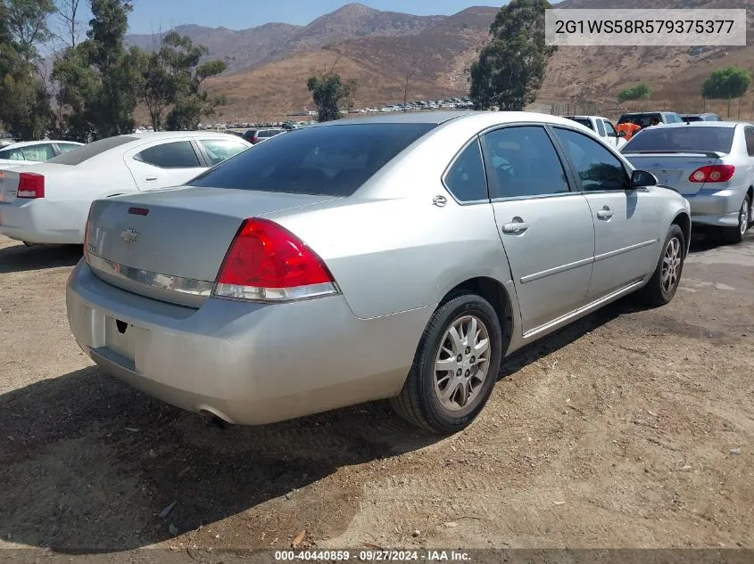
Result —
[[97, 200], [67, 287], [108, 372], [231, 423], [392, 398], [464, 428], [505, 356], [633, 292], [669, 302], [689, 205], [534, 113], [349, 119]]

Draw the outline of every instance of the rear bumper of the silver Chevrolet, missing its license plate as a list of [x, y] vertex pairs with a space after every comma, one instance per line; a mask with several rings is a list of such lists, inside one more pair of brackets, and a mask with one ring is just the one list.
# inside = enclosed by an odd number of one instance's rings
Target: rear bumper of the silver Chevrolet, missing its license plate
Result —
[[[210, 298], [193, 309], [119, 290], [83, 261], [66, 297], [79, 346], [107, 372], [238, 424], [397, 395], [433, 310], [361, 320], [342, 296], [272, 305]], [[135, 331], [133, 358], [106, 342], [108, 317]]]

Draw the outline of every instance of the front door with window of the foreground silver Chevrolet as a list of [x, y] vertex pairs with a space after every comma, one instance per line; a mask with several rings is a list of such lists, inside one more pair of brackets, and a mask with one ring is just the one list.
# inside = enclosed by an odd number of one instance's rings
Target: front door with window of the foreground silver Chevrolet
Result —
[[659, 257], [657, 205], [647, 189], [628, 190], [628, 171], [601, 143], [572, 129], [553, 130], [593, 217], [591, 302], [651, 272]]

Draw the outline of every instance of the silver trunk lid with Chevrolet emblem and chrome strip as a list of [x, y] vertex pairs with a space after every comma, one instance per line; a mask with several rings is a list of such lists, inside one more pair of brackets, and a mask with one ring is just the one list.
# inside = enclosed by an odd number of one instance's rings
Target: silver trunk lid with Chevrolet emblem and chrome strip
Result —
[[334, 199], [188, 187], [97, 200], [87, 262], [123, 290], [201, 307], [245, 218]]

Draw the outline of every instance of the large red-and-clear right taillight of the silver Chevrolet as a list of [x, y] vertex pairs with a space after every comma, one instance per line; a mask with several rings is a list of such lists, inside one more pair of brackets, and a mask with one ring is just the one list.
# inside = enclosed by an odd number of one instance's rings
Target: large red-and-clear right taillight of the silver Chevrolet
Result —
[[252, 217], [236, 233], [213, 292], [223, 298], [288, 301], [336, 294], [322, 259], [293, 233]]

